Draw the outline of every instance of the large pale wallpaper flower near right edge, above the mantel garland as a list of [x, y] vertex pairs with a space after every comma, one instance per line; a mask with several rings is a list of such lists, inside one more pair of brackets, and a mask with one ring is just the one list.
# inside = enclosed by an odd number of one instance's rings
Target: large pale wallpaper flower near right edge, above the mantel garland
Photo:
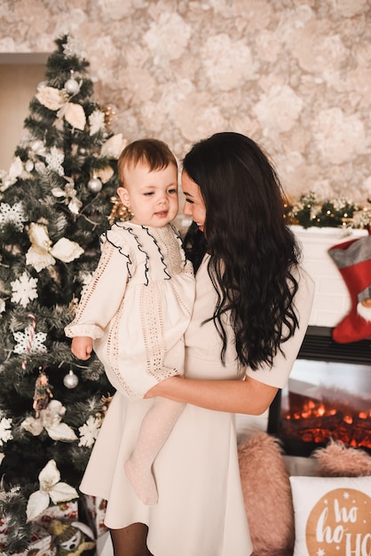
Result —
[[367, 152], [365, 128], [356, 114], [345, 115], [337, 107], [321, 110], [312, 129], [321, 158], [330, 163], [347, 163]]

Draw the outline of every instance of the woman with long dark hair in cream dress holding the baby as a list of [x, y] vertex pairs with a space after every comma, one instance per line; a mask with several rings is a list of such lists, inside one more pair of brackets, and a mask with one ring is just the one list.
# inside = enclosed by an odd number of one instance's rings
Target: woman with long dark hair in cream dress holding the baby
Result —
[[[146, 400], [114, 395], [82, 490], [108, 500], [115, 556], [248, 556], [252, 552], [234, 413], [260, 415], [284, 387], [304, 338], [312, 280], [299, 266], [272, 164], [251, 139], [217, 133], [186, 155], [185, 249], [196, 272], [185, 377]], [[122, 462], [154, 396], [186, 409], [154, 462], [159, 493], [138, 503]]]

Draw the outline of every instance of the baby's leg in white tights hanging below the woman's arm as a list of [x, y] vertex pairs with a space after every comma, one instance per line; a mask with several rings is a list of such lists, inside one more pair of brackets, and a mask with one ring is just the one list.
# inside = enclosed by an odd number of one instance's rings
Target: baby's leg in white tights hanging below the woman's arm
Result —
[[137, 496], [146, 505], [157, 504], [158, 494], [152, 464], [185, 405], [167, 398], [154, 398], [154, 405], [140, 425], [137, 445], [125, 463], [125, 472]]

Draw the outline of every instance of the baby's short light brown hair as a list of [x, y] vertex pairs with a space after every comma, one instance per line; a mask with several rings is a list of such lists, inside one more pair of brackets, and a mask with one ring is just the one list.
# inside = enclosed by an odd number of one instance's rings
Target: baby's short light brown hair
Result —
[[166, 143], [159, 139], [138, 139], [125, 147], [118, 158], [117, 170], [120, 187], [126, 187], [125, 170], [135, 167], [137, 164], [145, 164], [150, 171], [162, 170], [170, 164], [174, 164], [178, 169], [177, 159]]

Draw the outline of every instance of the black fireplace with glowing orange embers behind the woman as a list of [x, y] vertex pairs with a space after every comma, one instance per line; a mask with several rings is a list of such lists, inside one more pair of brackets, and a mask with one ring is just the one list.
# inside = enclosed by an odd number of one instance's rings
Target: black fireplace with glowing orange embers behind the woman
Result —
[[290, 456], [308, 457], [330, 439], [371, 453], [371, 338], [341, 345], [330, 328], [310, 326], [268, 431]]

